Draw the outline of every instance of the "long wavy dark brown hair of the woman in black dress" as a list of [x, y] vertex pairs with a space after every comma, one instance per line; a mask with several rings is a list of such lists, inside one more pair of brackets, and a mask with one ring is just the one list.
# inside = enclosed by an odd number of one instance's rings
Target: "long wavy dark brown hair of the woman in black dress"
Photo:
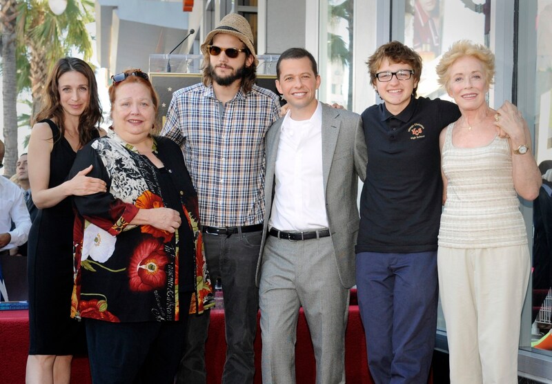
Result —
[[59, 78], [68, 72], [75, 71], [81, 73], [88, 80], [88, 106], [79, 116], [79, 144], [81, 146], [92, 140], [93, 132], [97, 130], [99, 122], [101, 122], [101, 106], [99, 103], [98, 86], [94, 71], [90, 66], [81, 59], [76, 57], [63, 57], [55, 64], [52, 72], [46, 80], [46, 86], [41, 95], [40, 111], [34, 115], [32, 124], [43, 119], [55, 119], [61, 136], [65, 133], [65, 118], [63, 107], [60, 104], [59, 97]]

